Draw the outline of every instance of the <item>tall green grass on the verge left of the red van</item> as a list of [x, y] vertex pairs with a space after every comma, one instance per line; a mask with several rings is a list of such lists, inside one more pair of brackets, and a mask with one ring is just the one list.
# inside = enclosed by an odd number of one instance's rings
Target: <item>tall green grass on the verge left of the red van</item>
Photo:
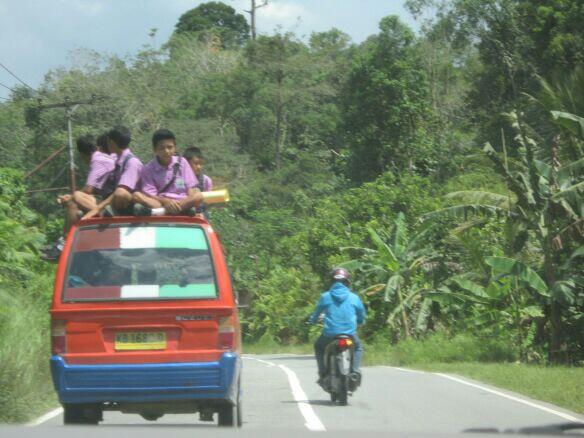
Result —
[[53, 401], [47, 366], [53, 269], [26, 208], [22, 173], [0, 168], [0, 422], [24, 421]]

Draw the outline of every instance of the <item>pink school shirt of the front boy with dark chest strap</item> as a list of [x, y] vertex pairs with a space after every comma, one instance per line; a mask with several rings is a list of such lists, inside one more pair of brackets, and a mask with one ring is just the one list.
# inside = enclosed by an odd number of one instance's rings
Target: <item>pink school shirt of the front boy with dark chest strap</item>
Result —
[[[179, 163], [179, 169], [174, 182], [164, 191], [162, 189], [172, 179], [174, 166]], [[169, 199], [184, 199], [187, 197], [189, 189], [198, 188], [199, 182], [183, 157], [172, 157], [168, 166], [163, 166], [154, 158], [142, 169], [142, 192], [150, 196], [159, 196]]]

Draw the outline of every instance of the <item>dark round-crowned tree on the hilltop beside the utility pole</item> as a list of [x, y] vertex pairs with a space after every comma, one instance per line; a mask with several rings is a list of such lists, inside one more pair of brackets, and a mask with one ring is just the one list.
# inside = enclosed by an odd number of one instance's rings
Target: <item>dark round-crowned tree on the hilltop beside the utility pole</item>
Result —
[[249, 39], [245, 17], [222, 2], [208, 2], [185, 12], [178, 20], [175, 34], [217, 36], [224, 47], [241, 46]]

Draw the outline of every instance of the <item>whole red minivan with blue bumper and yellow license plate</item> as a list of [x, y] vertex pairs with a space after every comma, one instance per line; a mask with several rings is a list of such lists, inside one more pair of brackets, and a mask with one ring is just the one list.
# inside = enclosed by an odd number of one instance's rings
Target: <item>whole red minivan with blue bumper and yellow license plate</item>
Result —
[[116, 410], [241, 425], [237, 300], [204, 220], [78, 223], [59, 260], [51, 324], [65, 424], [97, 424]]

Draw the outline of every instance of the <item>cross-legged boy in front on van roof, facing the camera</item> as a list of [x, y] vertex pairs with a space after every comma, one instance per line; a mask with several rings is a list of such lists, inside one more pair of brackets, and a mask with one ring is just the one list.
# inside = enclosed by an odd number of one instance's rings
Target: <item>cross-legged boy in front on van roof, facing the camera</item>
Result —
[[134, 214], [193, 214], [203, 201], [199, 183], [187, 160], [177, 157], [176, 138], [168, 129], [152, 135], [154, 159], [141, 173], [142, 189], [134, 193]]

